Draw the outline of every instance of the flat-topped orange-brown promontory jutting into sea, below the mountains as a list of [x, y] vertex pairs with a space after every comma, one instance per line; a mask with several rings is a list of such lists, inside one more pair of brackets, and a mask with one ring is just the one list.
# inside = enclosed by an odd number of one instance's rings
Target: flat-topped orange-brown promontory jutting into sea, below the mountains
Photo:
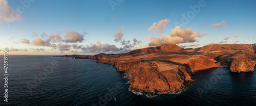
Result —
[[193, 81], [191, 74], [196, 71], [219, 67], [214, 55], [187, 55], [174, 52], [153, 53], [137, 57], [99, 59], [98, 63], [112, 64], [125, 71], [132, 92], [142, 92], [149, 96], [161, 93], [177, 93], [186, 90]]

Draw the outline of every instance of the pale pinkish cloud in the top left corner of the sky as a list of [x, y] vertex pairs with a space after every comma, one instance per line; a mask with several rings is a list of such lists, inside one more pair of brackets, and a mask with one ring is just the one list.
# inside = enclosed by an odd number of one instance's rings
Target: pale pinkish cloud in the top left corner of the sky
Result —
[[1, 20], [6, 22], [13, 22], [22, 20], [22, 14], [15, 12], [8, 6], [7, 0], [0, 0], [0, 23]]

